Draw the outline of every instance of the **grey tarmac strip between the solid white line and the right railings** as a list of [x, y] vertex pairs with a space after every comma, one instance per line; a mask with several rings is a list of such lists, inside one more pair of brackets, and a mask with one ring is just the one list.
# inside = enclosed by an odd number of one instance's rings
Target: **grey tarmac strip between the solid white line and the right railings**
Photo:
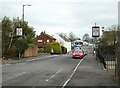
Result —
[[115, 71], [105, 70], [95, 56], [90, 54], [83, 60], [67, 86], [106, 86], [108, 88], [114, 86], [118, 88], [114, 76]]

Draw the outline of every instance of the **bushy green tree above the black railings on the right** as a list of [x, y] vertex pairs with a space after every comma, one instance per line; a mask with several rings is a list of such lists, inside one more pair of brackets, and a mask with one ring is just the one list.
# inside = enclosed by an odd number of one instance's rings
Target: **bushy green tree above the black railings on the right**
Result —
[[115, 54], [115, 42], [117, 36], [117, 26], [111, 26], [103, 31], [102, 38], [99, 39], [99, 49], [105, 53]]

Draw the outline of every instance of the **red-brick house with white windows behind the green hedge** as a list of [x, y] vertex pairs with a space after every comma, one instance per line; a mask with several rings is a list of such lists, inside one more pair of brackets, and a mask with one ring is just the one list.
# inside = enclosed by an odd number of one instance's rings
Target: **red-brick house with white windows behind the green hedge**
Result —
[[51, 43], [52, 41], [55, 41], [56, 39], [53, 38], [52, 36], [46, 34], [46, 33], [42, 33], [41, 35], [37, 36], [34, 39], [34, 43], [38, 48], [44, 48], [44, 46], [47, 43]]

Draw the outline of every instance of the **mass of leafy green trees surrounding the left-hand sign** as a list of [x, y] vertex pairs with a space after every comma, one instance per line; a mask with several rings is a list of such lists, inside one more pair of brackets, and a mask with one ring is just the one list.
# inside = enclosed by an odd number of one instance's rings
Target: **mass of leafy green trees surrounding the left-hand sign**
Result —
[[[22, 37], [16, 36], [17, 27], [23, 29]], [[17, 52], [23, 53], [28, 47], [28, 44], [33, 43], [34, 36], [34, 28], [30, 27], [28, 22], [19, 18], [13, 18], [13, 20], [10, 20], [5, 16], [2, 19], [2, 55], [6, 57], [9, 50], [11, 50], [11, 47], [14, 47]]]

